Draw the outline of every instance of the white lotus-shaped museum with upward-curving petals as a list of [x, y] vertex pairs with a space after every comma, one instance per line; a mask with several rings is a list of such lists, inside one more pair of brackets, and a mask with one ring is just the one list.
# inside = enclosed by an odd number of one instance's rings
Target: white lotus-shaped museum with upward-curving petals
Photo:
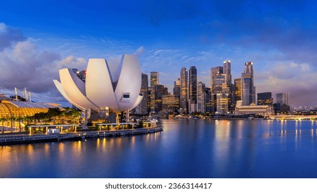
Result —
[[[112, 69], [112, 71], [110, 71]], [[142, 95], [141, 69], [137, 56], [124, 55], [116, 66], [105, 59], [89, 59], [86, 82], [71, 69], [60, 69], [60, 82], [53, 80], [62, 96], [80, 110], [122, 112], [137, 106]]]

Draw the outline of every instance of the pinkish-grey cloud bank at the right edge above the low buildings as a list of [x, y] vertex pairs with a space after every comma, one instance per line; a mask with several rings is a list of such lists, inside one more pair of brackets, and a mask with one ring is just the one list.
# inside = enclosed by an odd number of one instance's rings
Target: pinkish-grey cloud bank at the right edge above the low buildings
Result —
[[[285, 62], [268, 66], [266, 71], [257, 73], [257, 93], [290, 93], [291, 106], [316, 106], [316, 69], [312, 64]], [[257, 78], [257, 75], [255, 75]]]

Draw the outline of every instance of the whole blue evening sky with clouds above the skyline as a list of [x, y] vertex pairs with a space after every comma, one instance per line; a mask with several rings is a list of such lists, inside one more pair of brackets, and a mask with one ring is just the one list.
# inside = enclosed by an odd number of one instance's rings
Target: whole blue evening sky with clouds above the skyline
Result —
[[139, 57], [172, 92], [180, 69], [231, 60], [232, 79], [253, 62], [257, 93], [290, 93], [291, 107], [317, 106], [316, 1], [3, 1], [0, 84], [25, 87], [40, 101], [65, 105], [52, 80], [89, 58]]

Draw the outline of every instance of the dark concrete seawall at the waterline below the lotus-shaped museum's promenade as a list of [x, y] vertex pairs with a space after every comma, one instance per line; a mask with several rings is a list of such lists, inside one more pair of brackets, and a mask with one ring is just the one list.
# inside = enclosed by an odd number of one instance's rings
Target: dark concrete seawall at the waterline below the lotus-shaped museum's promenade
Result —
[[0, 136], [0, 145], [19, 144], [19, 143], [37, 143], [48, 141], [63, 140], [80, 140], [93, 137], [112, 137], [112, 136], [128, 136], [137, 134], [149, 134], [152, 132], [161, 132], [163, 127], [156, 128], [138, 128], [132, 130], [111, 130], [111, 131], [82, 131], [76, 133], [63, 134], [16, 134], [8, 136]]

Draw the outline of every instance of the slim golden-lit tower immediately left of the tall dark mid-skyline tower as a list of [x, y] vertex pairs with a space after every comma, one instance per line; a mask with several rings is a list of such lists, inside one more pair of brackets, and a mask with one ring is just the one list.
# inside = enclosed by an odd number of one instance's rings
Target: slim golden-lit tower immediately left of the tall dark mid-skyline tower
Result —
[[187, 100], [188, 100], [188, 73], [187, 69], [183, 67], [180, 70], [180, 108], [187, 112]]

